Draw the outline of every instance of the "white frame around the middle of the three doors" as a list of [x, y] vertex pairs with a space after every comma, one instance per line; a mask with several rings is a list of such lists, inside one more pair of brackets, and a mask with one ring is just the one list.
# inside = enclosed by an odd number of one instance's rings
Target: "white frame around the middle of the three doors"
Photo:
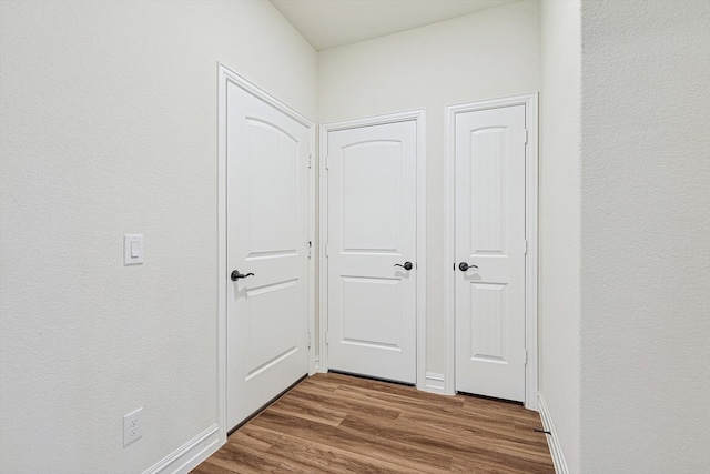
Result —
[[363, 119], [346, 120], [321, 124], [321, 208], [320, 208], [320, 362], [318, 371], [328, 371], [326, 332], [328, 321], [328, 266], [325, 258], [325, 241], [328, 229], [328, 183], [325, 161], [328, 152], [328, 132], [354, 129], [358, 127], [382, 125], [385, 123], [405, 122], [414, 120], [417, 128], [417, 302], [416, 302], [416, 331], [417, 331], [417, 382], [419, 390], [425, 390], [426, 374], [426, 113], [424, 109], [408, 110], [385, 115], [367, 117]]

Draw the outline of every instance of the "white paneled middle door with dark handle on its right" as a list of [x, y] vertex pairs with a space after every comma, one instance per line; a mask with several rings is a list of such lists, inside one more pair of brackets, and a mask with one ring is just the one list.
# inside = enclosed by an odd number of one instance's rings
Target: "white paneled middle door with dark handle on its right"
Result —
[[327, 135], [328, 366], [416, 382], [416, 121]]

